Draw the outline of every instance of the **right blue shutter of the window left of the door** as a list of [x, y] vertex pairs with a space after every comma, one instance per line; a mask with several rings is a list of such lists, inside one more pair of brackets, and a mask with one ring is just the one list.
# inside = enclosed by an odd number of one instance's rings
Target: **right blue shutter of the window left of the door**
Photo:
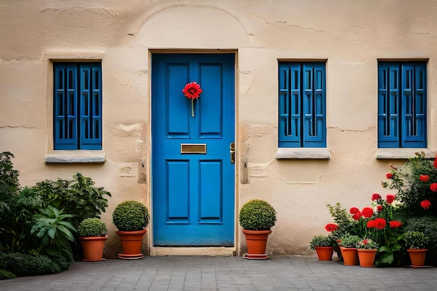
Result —
[[80, 149], [101, 149], [102, 73], [100, 64], [80, 68]]

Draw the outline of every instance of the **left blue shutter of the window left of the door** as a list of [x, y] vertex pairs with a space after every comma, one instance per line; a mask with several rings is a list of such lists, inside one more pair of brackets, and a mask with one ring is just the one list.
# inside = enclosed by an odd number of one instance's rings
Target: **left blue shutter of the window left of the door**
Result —
[[77, 70], [54, 64], [54, 149], [77, 149]]

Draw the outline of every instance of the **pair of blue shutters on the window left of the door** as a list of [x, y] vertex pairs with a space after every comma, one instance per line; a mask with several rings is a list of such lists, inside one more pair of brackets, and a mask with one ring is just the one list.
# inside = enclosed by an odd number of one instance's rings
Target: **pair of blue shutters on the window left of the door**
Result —
[[100, 63], [54, 63], [54, 149], [102, 149]]

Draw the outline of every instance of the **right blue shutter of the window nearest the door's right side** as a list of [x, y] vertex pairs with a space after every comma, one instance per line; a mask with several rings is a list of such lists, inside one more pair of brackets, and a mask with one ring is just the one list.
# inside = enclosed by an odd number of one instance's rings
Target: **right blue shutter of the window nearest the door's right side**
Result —
[[326, 147], [325, 64], [304, 64], [302, 70], [303, 147]]

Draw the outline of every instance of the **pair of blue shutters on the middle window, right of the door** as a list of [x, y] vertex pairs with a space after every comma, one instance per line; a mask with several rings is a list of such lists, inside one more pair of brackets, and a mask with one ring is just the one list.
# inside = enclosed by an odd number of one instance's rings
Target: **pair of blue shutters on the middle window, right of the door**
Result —
[[279, 147], [326, 147], [325, 63], [279, 63]]

